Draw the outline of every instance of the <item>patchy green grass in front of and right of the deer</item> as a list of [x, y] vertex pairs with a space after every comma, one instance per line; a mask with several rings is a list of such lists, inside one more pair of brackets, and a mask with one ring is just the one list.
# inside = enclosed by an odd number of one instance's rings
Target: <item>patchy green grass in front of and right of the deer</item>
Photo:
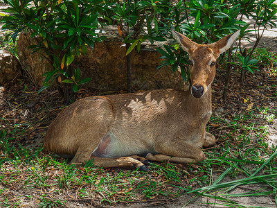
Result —
[[[267, 109], [267, 112], [271, 114], [272, 110]], [[276, 147], [268, 148], [265, 142], [267, 128], [257, 123], [257, 119], [267, 121], [264, 115], [265, 110], [255, 109], [255, 113], [236, 114], [230, 120], [212, 117], [212, 125], [208, 128], [211, 132], [219, 132], [219, 140], [224, 141], [217, 148], [206, 150], [204, 162], [189, 164], [185, 168], [179, 164], [154, 163], [149, 173], [103, 170], [93, 164], [75, 168], [60, 157], [44, 155], [42, 148], [32, 150], [21, 144], [15, 145], [22, 133], [17, 128], [9, 133], [0, 130], [0, 184], [2, 188], [6, 187], [1, 189], [0, 205], [20, 206], [19, 198], [12, 202], [3, 194], [8, 189], [20, 187], [40, 190], [39, 196], [21, 196], [25, 201], [39, 198], [39, 207], [66, 207], [67, 202], [77, 199], [114, 205], [118, 202], [177, 198], [184, 194], [216, 198], [218, 205], [222, 206], [244, 207], [233, 198], [268, 196], [275, 194], [277, 189]], [[253, 135], [256, 141], [253, 141]], [[238, 175], [244, 177], [222, 182], [227, 176]], [[267, 184], [268, 187], [245, 193], [229, 193], [245, 184]], [[58, 196], [64, 192], [67, 192], [67, 196], [60, 199]], [[190, 202], [192, 200], [184, 207]], [[275, 203], [277, 205], [277, 200]]]

